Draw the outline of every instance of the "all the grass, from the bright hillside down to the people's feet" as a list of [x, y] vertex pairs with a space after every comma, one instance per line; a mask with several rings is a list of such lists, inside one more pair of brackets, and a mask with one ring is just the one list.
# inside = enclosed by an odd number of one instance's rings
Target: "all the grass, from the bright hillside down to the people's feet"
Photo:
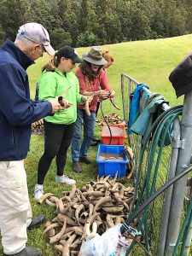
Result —
[[[122, 108], [121, 93], [120, 93], [120, 74], [125, 73], [136, 79], [140, 83], [148, 84], [153, 92], [159, 92], [170, 102], [171, 106], [183, 102], [183, 98], [177, 99], [175, 92], [172, 89], [172, 84], [168, 80], [169, 73], [173, 67], [181, 61], [185, 55], [189, 53], [192, 47], [192, 35], [186, 35], [177, 38], [166, 38], [158, 40], [137, 41], [122, 44], [111, 44], [103, 47], [108, 48], [114, 56], [113, 66], [108, 70], [109, 84], [116, 91], [115, 102]], [[90, 48], [77, 49], [79, 56], [87, 52]], [[32, 97], [35, 92], [35, 84], [41, 73], [41, 67], [48, 60], [48, 55], [37, 61], [28, 69]], [[111, 108], [110, 102], [104, 102], [104, 113], [112, 113], [118, 110]], [[122, 115], [122, 111], [120, 111]], [[99, 118], [101, 118], [99, 113]], [[97, 127], [96, 135], [101, 134], [100, 128]], [[38, 205], [33, 199], [33, 188], [37, 182], [38, 160], [43, 154], [44, 137], [32, 136], [30, 152], [26, 158], [26, 172], [28, 178], [29, 195], [32, 202], [32, 210], [34, 215], [44, 213], [46, 218], [52, 219], [54, 212], [51, 208], [45, 205]], [[90, 157], [96, 159], [96, 148], [90, 148]], [[71, 153], [68, 152], [66, 174], [77, 180], [77, 185], [82, 186], [84, 181], [90, 181], [96, 177], [96, 163], [92, 166], [83, 165], [82, 173], [72, 172]], [[61, 196], [61, 191], [70, 189], [69, 186], [58, 185], [54, 182], [55, 178], [55, 162], [53, 161], [48, 175], [45, 177], [44, 191], [52, 192], [56, 196]], [[127, 183], [127, 181], [123, 181]], [[42, 237], [43, 228], [28, 232], [28, 243], [32, 246], [41, 247], [44, 255], [56, 255], [54, 247], [49, 246], [46, 237]]]

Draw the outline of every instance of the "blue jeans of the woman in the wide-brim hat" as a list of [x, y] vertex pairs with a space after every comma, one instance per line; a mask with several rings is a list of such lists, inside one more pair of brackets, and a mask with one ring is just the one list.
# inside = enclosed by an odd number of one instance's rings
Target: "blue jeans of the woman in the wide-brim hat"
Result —
[[[81, 144], [82, 126], [84, 124], [84, 139]], [[78, 162], [79, 157], [87, 156], [90, 149], [90, 143], [93, 140], [96, 129], [96, 113], [90, 112], [88, 117], [84, 109], [78, 109], [78, 118], [74, 126], [74, 135], [72, 139], [72, 160]]]

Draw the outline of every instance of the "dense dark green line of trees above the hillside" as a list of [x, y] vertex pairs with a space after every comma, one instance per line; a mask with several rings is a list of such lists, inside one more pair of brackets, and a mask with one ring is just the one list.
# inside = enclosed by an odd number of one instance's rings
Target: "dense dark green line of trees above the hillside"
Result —
[[0, 43], [39, 22], [55, 49], [170, 38], [192, 32], [192, 0], [0, 0]]

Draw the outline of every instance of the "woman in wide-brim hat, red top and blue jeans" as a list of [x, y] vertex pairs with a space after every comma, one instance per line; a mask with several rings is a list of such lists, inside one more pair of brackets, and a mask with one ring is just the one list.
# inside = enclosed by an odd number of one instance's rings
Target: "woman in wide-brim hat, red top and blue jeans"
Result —
[[[83, 105], [78, 105], [78, 118], [74, 126], [72, 140], [72, 160], [73, 172], [82, 172], [79, 162], [91, 164], [92, 161], [87, 157], [90, 143], [93, 140], [96, 128], [96, 104], [98, 99], [107, 99], [111, 96], [111, 88], [108, 84], [106, 72], [103, 66], [108, 63], [102, 57], [102, 49], [92, 46], [88, 53], [82, 56], [82, 63], [76, 71], [79, 79], [80, 93], [84, 96], [93, 96], [89, 108], [90, 115], [85, 112]], [[84, 124], [84, 138], [81, 143], [82, 126]]]

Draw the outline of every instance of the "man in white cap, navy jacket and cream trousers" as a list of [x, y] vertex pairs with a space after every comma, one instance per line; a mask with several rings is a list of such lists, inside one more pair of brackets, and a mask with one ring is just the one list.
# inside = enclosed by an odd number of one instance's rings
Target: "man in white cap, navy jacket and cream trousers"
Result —
[[[47, 51], [54, 55], [49, 33], [38, 23], [20, 26], [15, 43], [0, 47], [0, 230], [3, 255], [38, 256], [27, 247], [26, 230], [38, 227], [44, 216], [32, 218], [23, 160], [29, 149], [32, 122], [64, 109], [58, 98], [32, 102], [26, 68]], [[67, 108], [67, 105], [65, 105]]]

